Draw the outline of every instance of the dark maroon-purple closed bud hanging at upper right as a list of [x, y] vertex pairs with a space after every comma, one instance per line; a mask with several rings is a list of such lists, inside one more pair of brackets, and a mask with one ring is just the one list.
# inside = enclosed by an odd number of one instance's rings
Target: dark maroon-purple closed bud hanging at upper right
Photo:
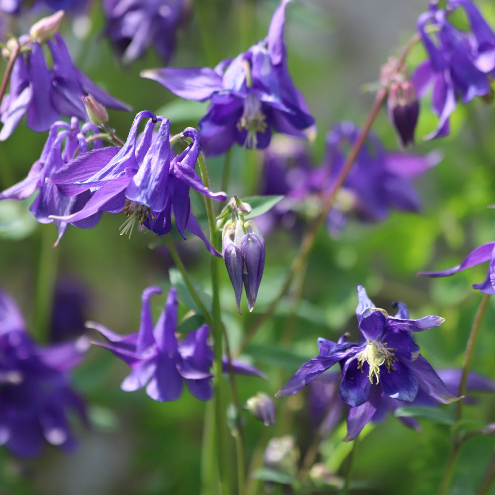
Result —
[[410, 81], [391, 83], [387, 110], [402, 146], [406, 147], [409, 143], [414, 143], [419, 102], [414, 85]]

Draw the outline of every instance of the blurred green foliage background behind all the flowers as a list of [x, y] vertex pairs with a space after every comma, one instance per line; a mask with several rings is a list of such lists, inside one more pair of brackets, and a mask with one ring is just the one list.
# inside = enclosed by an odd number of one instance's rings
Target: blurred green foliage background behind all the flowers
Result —
[[[310, 146], [315, 164], [321, 161], [325, 134], [334, 122], [364, 122], [373, 95], [363, 92], [363, 85], [376, 81], [379, 66], [407, 42], [426, 3], [295, 0], [289, 6], [289, 68], [317, 122], [316, 140]], [[477, 3], [495, 25], [492, 2]], [[266, 35], [276, 5], [273, 0], [208, 0], [193, 4], [189, 22], [178, 32], [171, 65], [212, 65], [246, 50]], [[18, 19], [12, 30], [16, 34], [27, 32], [33, 20], [36, 19]], [[123, 67], [102, 34], [103, 27], [104, 16], [98, 1], [91, 2], [87, 15], [64, 20], [61, 32], [78, 67], [136, 111], [149, 109], [168, 117], [173, 132], [196, 125], [205, 105], [177, 99], [153, 81], [139, 77], [142, 69], [163, 65], [152, 50]], [[413, 69], [423, 57], [422, 48], [416, 47], [408, 66]], [[3, 71], [5, 62], [1, 64]], [[109, 114], [112, 127], [125, 137], [133, 114]], [[242, 401], [258, 391], [273, 396], [297, 367], [316, 353], [317, 337], [336, 340], [344, 331], [357, 335], [357, 284], [366, 287], [379, 307], [390, 308], [392, 301], [401, 300], [409, 305], [413, 317], [445, 317], [440, 328], [417, 335], [417, 342], [435, 368], [460, 367], [481, 298], [470, 286], [484, 279], [486, 267], [475, 267], [445, 279], [418, 279], [416, 273], [453, 266], [474, 247], [494, 238], [494, 213], [487, 209], [495, 203], [493, 104], [476, 99], [459, 107], [452, 117], [450, 136], [423, 142], [421, 136], [435, 125], [429, 105], [422, 102], [413, 150], [426, 153], [439, 149], [444, 153], [440, 165], [416, 181], [423, 211], [393, 212], [380, 224], [351, 221], [338, 239], [330, 238], [322, 229], [308, 266], [292, 340], [282, 340], [290, 308], [287, 299], [243, 354], [244, 359], [266, 374], [267, 380], [238, 378]], [[385, 111], [374, 130], [388, 148], [397, 148]], [[39, 157], [45, 139], [45, 134], [36, 134], [22, 124], [0, 144], [2, 189], [26, 175]], [[241, 197], [255, 194], [262, 177], [261, 163], [261, 153], [236, 148], [228, 193]], [[222, 164], [222, 157], [207, 161], [213, 190], [219, 189]], [[117, 332], [138, 329], [141, 292], [149, 285], [164, 288], [164, 294], [152, 300], [154, 313], [159, 313], [170, 287], [169, 269], [173, 267], [162, 241], [150, 232], [135, 233], [130, 240], [121, 237], [119, 226], [123, 217], [104, 214], [91, 230], [70, 227], [60, 246], [52, 251], [55, 227], [37, 224], [28, 212], [29, 204], [30, 200], [0, 203], [0, 273], [2, 288], [18, 301], [38, 342], [48, 342], [50, 338], [49, 326], [39, 328], [36, 320], [39, 311], [43, 311], [41, 305], [52, 298], [50, 287], [57, 279], [80, 285], [85, 293], [85, 317]], [[205, 214], [199, 198], [193, 198], [193, 208], [204, 226]], [[301, 218], [299, 223], [306, 220]], [[248, 313], [243, 302], [243, 316], [237, 314], [228, 276], [226, 272], [222, 274], [224, 323], [234, 347], [277, 293], [300, 241], [299, 223], [267, 235], [265, 272], [253, 313]], [[177, 246], [193, 277], [208, 291], [209, 262], [200, 241], [191, 236]], [[181, 314], [187, 311], [184, 304], [180, 309]], [[473, 360], [473, 369], [492, 379], [494, 314], [492, 298]], [[120, 360], [92, 347], [87, 359], [73, 373], [74, 386], [85, 397], [92, 420], [90, 429], [75, 426], [79, 449], [65, 454], [47, 446], [43, 457], [31, 461], [15, 459], [0, 450], [0, 493], [199, 493], [205, 404], [188, 392], [171, 403], [154, 402], [144, 390], [125, 393], [119, 384], [126, 374], [127, 368]], [[259, 455], [271, 437], [287, 433], [296, 437], [302, 454], [311, 443], [313, 430], [306, 413], [305, 394], [277, 399], [276, 405], [285, 414], [270, 429], [244, 415], [249, 432], [248, 456]], [[486, 424], [495, 421], [494, 410], [495, 397], [481, 396], [478, 406], [467, 406], [465, 413]], [[363, 482], [363, 488], [356, 493], [435, 493], [449, 448], [449, 431], [447, 426], [428, 422], [422, 422], [422, 427], [422, 433], [417, 433], [389, 417], [370, 431], [356, 459], [354, 478]], [[338, 466], [347, 455], [348, 446], [339, 442], [343, 436], [341, 429], [324, 444], [321, 460], [328, 466]], [[481, 436], [466, 443], [452, 494], [475, 493], [493, 444], [493, 437]], [[268, 488], [260, 485], [259, 490], [264, 493]], [[322, 489], [318, 493], [333, 492]]]

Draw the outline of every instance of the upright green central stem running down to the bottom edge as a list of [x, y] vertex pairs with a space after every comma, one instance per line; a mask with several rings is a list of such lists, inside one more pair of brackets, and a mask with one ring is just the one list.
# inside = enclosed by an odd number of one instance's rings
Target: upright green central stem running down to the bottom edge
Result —
[[[204, 163], [204, 157], [202, 153], [198, 156], [199, 172], [204, 185], [210, 189], [208, 173], [206, 171], [206, 165]], [[220, 241], [219, 233], [216, 229], [215, 214], [213, 213], [213, 205], [211, 198], [204, 197], [204, 203], [206, 205], [206, 215], [208, 217], [208, 224], [210, 230], [210, 242], [213, 247], [218, 246]], [[224, 391], [222, 387], [222, 317], [220, 307], [220, 262], [221, 259], [217, 256], [210, 257], [210, 269], [211, 269], [211, 293], [212, 293], [212, 333], [213, 333], [213, 387], [215, 390], [214, 395], [214, 431], [215, 431], [215, 443], [212, 456], [216, 457], [218, 462], [218, 472], [220, 476], [220, 490], [223, 495], [230, 494], [230, 456], [228, 453], [228, 435], [227, 435], [227, 422], [225, 417], [224, 406]]]

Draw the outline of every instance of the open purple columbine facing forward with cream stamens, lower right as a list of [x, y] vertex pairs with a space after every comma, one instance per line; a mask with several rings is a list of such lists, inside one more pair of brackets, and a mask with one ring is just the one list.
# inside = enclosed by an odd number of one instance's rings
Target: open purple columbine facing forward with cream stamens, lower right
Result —
[[382, 393], [411, 402], [418, 390], [423, 390], [439, 402], [457, 400], [419, 353], [419, 347], [411, 337], [411, 332], [438, 327], [444, 318], [425, 316], [411, 320], [402, 302], [394, 303], [397, 314], [389, 316], [384, 309], [375, 307], [362, 286], [358, 286], [357, 292], [356, 316], [363, 340], [354, 344], [346, 342], [345, 338], [338, 343], [318, 339], [319, 355], [304, 363], [276, 396], [299, 392], [339, 363], [343, 375], [340, 395], [352, 407], [351, 419], [362, 422], [363, 426], [377, 410]]

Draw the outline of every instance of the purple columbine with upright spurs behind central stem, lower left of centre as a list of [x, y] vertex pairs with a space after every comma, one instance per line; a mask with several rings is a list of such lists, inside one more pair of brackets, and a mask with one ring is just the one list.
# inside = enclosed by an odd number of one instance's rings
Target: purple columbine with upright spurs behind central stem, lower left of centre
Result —
[[[89, 322], [108, 343], [94, 342], [109, 349], [131, 369], [121, 389], [126, 392], [146, 387], [149, 397], [160, 402], [177, 400], [182, 395], [184, 382], [189, 392], [200, 400], [213, 395], [210, 372], [213, 351], [207, 343], [209, 327], [202, 325], [189, 332], [186, 339], [178, 341], [176, 336], [178, 301], [175, 288], [170, 289], [165, 306], [153, 327], [149, 299], [160, 294], [159, 287], [148, 287], [143, 291], [141, 324], [139, 331], [127, 336], [112, 332], [97, 323]], [[262, 376], [252, 366], [238, 361], [231, 362], [234, 372]], [[223, 359], [223, 368], [228, 362]]]

